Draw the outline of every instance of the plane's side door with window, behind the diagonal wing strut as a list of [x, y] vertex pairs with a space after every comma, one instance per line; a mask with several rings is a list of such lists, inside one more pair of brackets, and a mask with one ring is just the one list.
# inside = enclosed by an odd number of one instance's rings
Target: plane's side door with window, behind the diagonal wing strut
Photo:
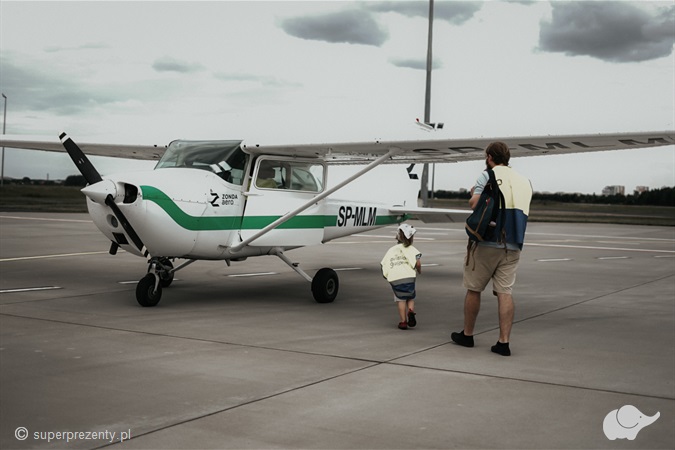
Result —
[[[325, 166], [315, 159], [260, 157], [247, 196], [241, 238], [245, 240], [286, 213], [311, 201], [325, 186]], [[258, 246], [304, 246], [323, 240], [323, 202], [251, 243]]]

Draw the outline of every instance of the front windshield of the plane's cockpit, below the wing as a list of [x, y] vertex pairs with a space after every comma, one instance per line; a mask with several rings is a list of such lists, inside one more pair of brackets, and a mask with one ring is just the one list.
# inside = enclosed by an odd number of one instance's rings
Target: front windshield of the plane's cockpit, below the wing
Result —
[[242, 185], [247, 155], [241, 141], [173, 141], [155, 169], [189, 167], [214, 172], [228, 183]]

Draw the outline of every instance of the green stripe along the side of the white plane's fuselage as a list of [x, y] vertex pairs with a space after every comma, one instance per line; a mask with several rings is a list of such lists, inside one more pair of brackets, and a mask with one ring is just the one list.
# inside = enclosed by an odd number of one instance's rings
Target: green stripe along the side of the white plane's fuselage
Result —
[[[156, 203], [160, 208], [171, 217], [174, 222], [182, 228], [190, 231], [210, 231], [210, 230], [260, 230], [271, 224], [281, 216], [191, 216], [185, 213], [180, 207], [161, 190], [152, 186], [141, 186], [143, 199]], [[409, 215], [400, 216], [378, 216], [375, 219], [375, 226], [385, 226], [402, 222], [409, 219]], [[279, 225], [280, 230], [288, 229], [316, 229], [334, 227], [337, 223], [337, 216], [327, 215], [307, 215], [296, 216]]]

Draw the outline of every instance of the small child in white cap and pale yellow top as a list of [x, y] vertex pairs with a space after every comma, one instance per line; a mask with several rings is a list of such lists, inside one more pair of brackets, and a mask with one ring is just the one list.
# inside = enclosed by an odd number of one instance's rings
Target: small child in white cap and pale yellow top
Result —
[[[401, 321], [398, 327], [407, 330], [417, 325], [415, 319], [415, 278], [422, 273], [422, 254], [412, 245], [415, 228], [402, 223], [398, 227], [398, 244], [391, 247], [382, 258], [382, 275], [394, 290], [394, 301]], [[407, 315], [407, 317], [406, 317]]]

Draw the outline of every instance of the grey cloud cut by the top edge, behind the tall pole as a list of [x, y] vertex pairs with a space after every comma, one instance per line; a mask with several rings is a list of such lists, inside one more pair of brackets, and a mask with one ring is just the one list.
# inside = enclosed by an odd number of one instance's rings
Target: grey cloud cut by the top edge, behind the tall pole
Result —
[[[434, 21], [444, 20], [461, 25], [483, 6], [482, 2], [434, 2]], [[429, 3], [420, 1], [366, 2], [363, 7], [373, 12], [395, 12], [406, 17], [429, 17]]]

